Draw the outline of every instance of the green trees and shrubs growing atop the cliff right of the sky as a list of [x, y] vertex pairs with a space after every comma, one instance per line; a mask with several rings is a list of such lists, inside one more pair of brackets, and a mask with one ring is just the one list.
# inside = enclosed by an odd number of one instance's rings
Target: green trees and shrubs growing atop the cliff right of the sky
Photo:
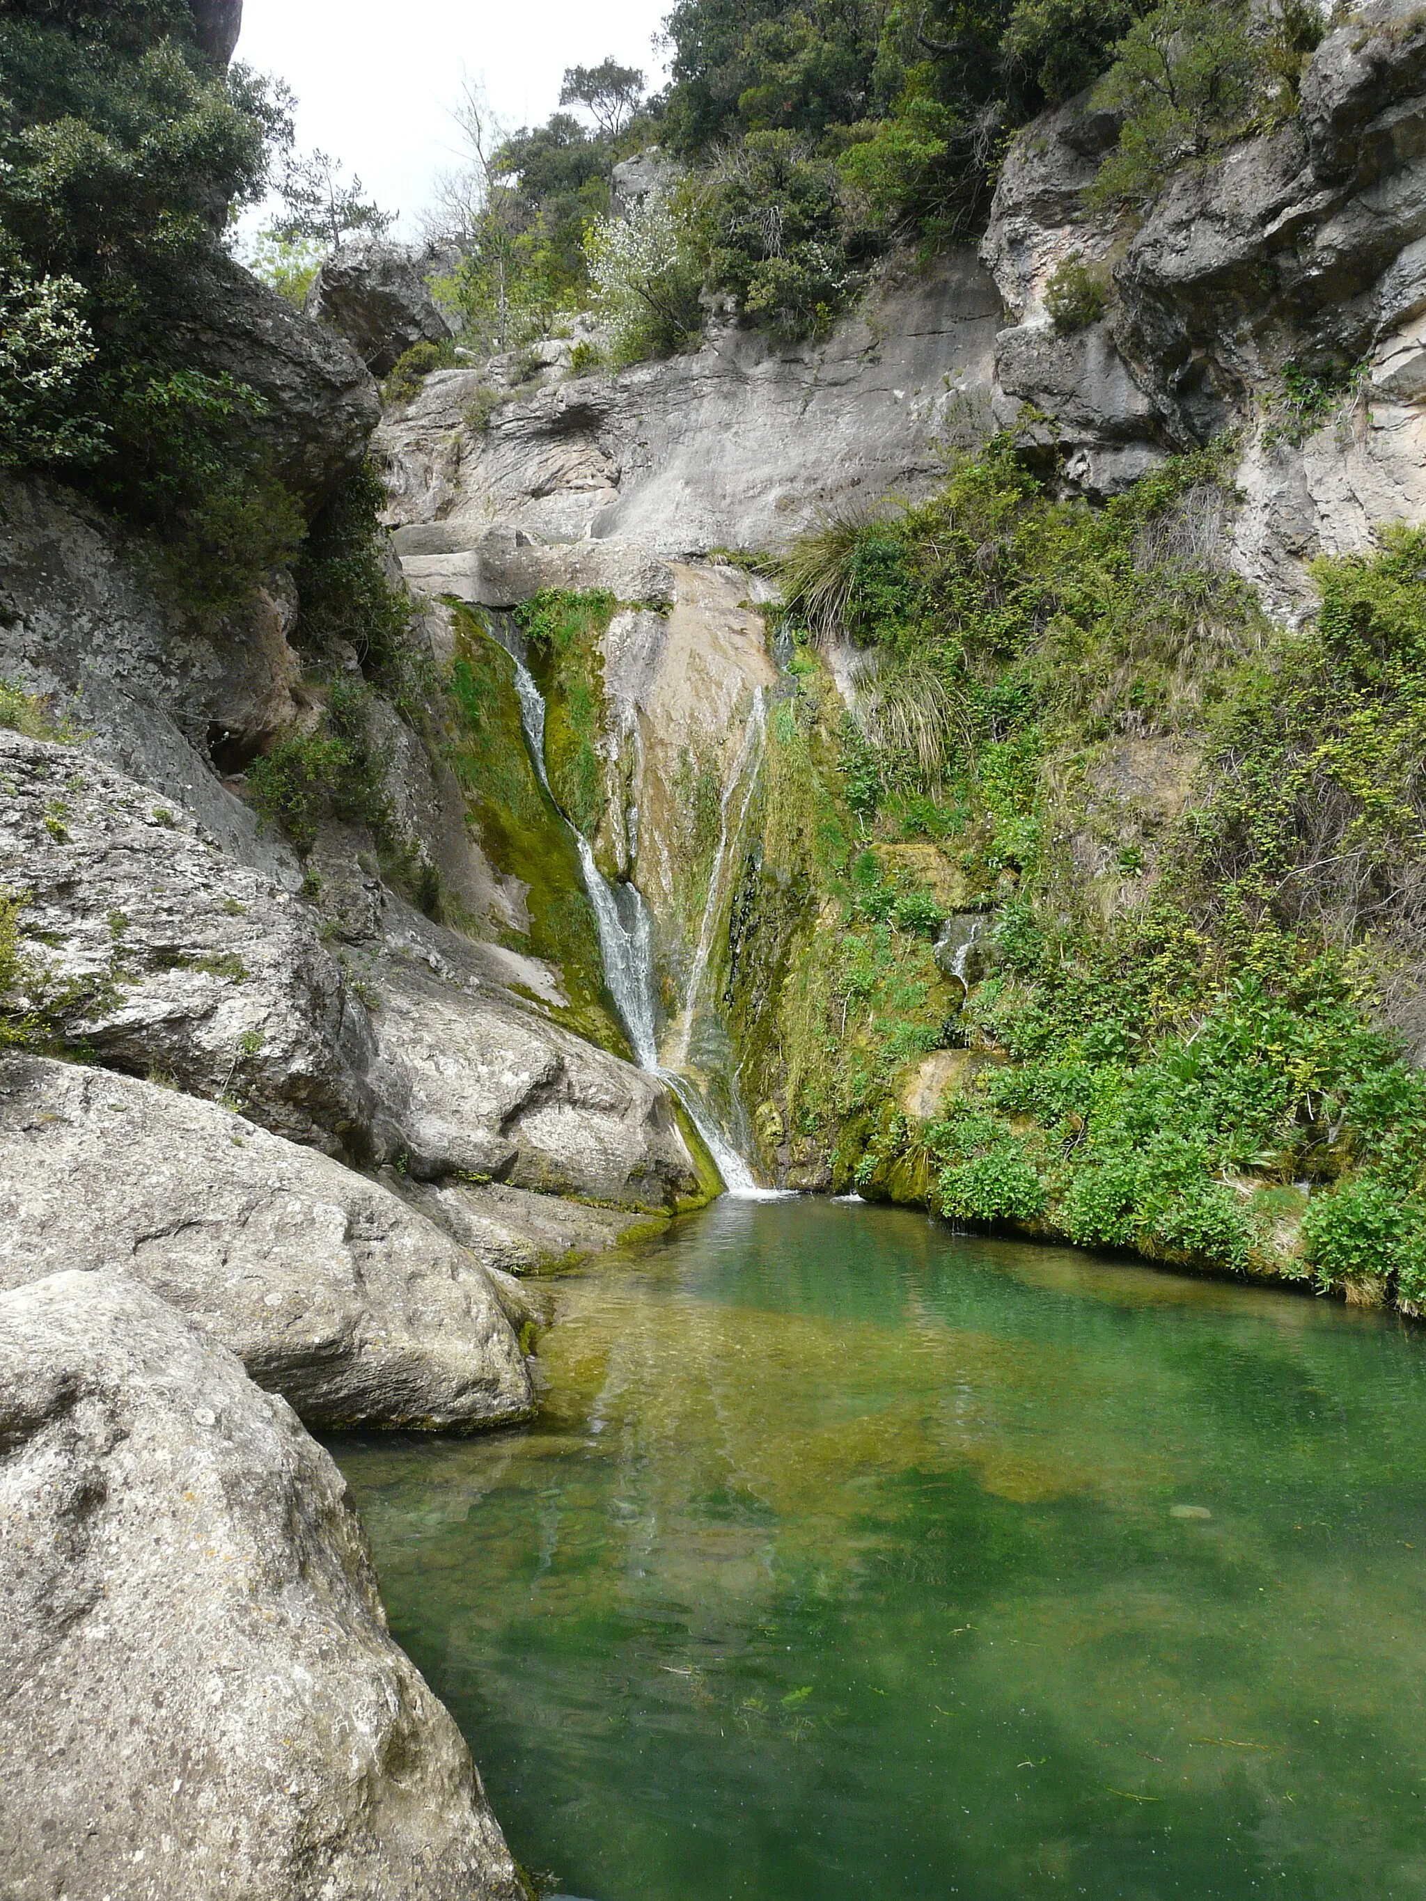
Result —
[[[778, 336], [821, 333], [888, 249], [983, 226], [1046, 106], [1091, 87], [1095, 194], [1141, 202], [1289, 118], [1325, 25], [1301, 0], [679, 0], [665, 30], [671, 84], [631, 116], [475, 139], [481, 211], [445, 207], [472, 335], [515, 346], [593, 300], [633, 361], [698, 335], [700, 289]], [[612, 163], [650, 143], [677, 165], [610, 217]]]

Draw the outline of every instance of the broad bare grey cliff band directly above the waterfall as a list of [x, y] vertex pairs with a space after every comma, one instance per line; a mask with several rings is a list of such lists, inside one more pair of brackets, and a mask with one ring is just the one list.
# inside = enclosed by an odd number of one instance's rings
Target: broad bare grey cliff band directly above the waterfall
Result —
[[956, 251], [821, 344], [713, 323], [692, 355], [553, 371], [504, 401], [485, 373], [437, 373], [376, 435], [390, 519], [439, 523], [447, 557], [492, 527], [660, 557], [780, 547], [825, 509], [930, 487], [934, 443], [979, 437], [998, 323], [992, 283]]

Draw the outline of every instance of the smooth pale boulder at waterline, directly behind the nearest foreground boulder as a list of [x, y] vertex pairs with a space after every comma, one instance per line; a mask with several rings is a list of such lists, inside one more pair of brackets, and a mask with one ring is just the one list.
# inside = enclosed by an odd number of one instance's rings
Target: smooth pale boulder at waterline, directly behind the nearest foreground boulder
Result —
[[529, 1310], [386, 1188], [215, 1103], [11, 1057], [0, 1285], [63, 1268], [145, 1281], [312, 1426], [472, 1428], [532, 1407]]

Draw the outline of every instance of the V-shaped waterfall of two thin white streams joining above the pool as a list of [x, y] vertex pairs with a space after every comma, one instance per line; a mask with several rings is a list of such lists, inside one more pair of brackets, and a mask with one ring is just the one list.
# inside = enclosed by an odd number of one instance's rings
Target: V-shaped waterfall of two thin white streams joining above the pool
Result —
[[[559, 810], [559, 800], [549, 789], [549, 776], [544, 764], [544, 694], [536, 686], [530, 669], [519, 654], [515, 654], [506, 641], [500, 644], [515, 662], [519, 717], [521, 726], [525, 728], [525, 741], [530, 749], [534, 770], [540, 778], [540, 785], [549, 795], [549, 802], [555, 810]], [[728, 804], [747, 772], [747, 762], [753, 757], [755, 747], [761, 743], [761, 734], [762, 688], [757, 690], [753, 719], [749, 720], [747, 739], [743, 741], [743, 751], [738, 760], [738, 774], [723, 797], [723, 835], [719, 838], [719, 855], [713, 865], [707, 907], [703, 909], [703, 930], [700, 931], [698, 954], [694, 958], [694, 979], [690, 981], [684, 1004], [684, 1030], [679, 1063], [684, 1063], [688, 1057], [688, 1025], [692, 1023], [692, 1009], [698, 1000], [696, 987], [702, 985], [711, 952], [723, 859], [728, 850], [728, 840], [732, 838], [736, 842], [738, 833], [742, 833], [743, 819], [747, 817], [747, 806], [753, 798], [751, 783], [738, 814], [738, 825], [732, 833], [728, 831]], [[568, 823], [568, 819], [565, 823]], [[622, 884], [616, 890], [595, 863], [593, 848], [584, 833], [574, 825], [570, 825], [570, 833], [580, 854], [584, 888], [589, 893], [589, 905], [595, 914], [599, 952], [605, 962], [605, 983], [608, 985], [608, 994], [614, 998], [614, 1006], [624, 1019], [624, 1028], [629, 1036], [629, 1047], [633, 1049], [635, 1063], [641, 1070], [646, 1070], [650, 1076], [658, 1076], [665, 1082], [679, 1097], [688, 1112], [688, 1120], [702, 1135], [707, 1152], [713, 1156], [719, 1175], [723, 1177], [723, 1186], [730, 1196], [776, 1194], [772, 1188], [759, 1188], [747, 1162], [738, 1154], [723, 1129], [719, 1129], [713, 1116], [709, 1116], [707, 1106], [702, 1103], [692, 1082], [677, 1070], [665, 1068], [658, 1061], [658, 1030], [654, 1013], [654, 920], [648, 914], [648, 905], [633, 884]]]

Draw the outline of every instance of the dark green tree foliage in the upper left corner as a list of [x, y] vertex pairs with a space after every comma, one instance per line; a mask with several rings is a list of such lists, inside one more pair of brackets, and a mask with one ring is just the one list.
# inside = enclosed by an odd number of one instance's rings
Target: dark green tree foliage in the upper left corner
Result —
[[198, 595], [230, 599], [291, 553], [260, 405], [183, 361], [226, 205], [259, 198], [287, 99], [217, 74], [186, 8], [0, 19], [0, 452], [57, 468], [160, 528]]

